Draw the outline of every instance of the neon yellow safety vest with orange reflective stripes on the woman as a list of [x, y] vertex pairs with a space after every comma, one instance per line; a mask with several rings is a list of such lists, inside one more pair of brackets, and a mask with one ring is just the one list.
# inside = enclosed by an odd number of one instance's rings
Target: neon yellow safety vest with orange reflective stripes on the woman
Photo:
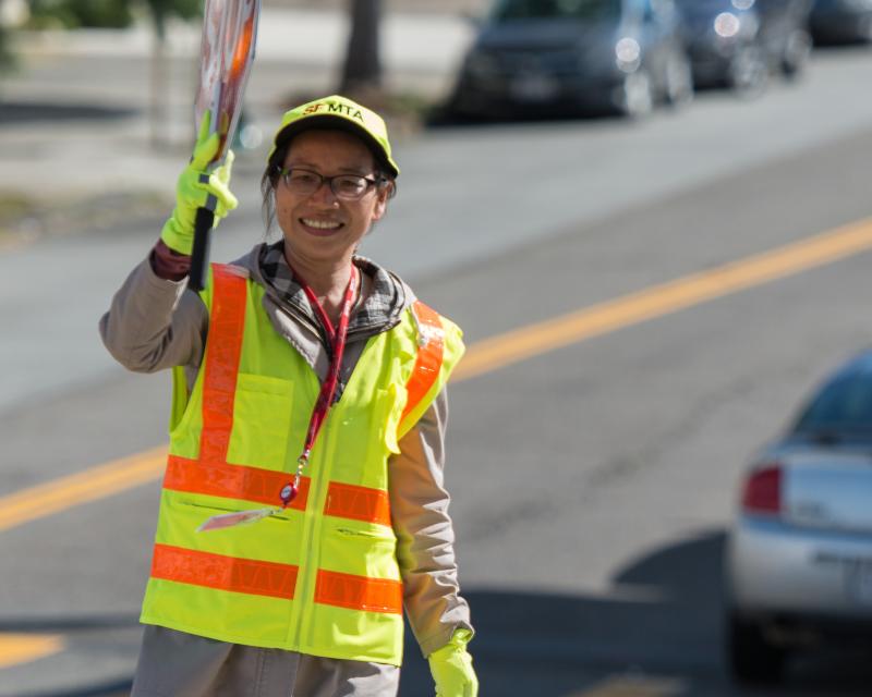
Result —
[[[298, 498], [256, 525], [197, 533], [223, 512], [279, 505], [318, 395], [317, 376], [272, 328], [264, 289], [214, 265], [205, 356], [179, 381], [142, 622], [313, 656], [402, 662], [402, 582], [388, 458], [463, 353], [423, 303], [368, 339], [330, 409]], [[182, 390], [180, 390], [180, 386]]]

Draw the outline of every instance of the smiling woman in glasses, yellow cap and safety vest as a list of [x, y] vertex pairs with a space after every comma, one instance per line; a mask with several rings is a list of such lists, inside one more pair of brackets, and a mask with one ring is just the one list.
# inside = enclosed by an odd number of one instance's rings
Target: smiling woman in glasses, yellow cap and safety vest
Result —
[[404, 608], [437, 695], [474, 696], [441, 472], [460, 330], [355, 256], [396, 192], [385, 123], [337, 96], [288, 111], [263, 178], [282, 240], [213, 265], [197, 294], [195, 211], [237, 205], [232, 154], [203, 173], [217, 148], [201, 130], [100, 321], [128, 368], [173, 368], [133, 695], [395, 695]]

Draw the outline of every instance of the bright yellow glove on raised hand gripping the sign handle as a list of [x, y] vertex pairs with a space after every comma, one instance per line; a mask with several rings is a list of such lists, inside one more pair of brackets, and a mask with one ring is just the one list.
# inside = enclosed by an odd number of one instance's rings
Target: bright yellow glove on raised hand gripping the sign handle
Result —
[[206, 167], [218, 152], [219, 145], [220, 135], [218, 133], [209, 135], [207, 111], [199, 124], [199, 134], [191, 162], [182, 170], [175, 184], [175, 208], [160, 232], [164, 243], [180, 254], [191, 255], [197, 208], [213, 209], [217, 225], [228, 211], [238, 206], [237, 197], [230, 193], [229, 187], [233, 150], [228, 150], [221, 167], [210, 173], [206, 171]]

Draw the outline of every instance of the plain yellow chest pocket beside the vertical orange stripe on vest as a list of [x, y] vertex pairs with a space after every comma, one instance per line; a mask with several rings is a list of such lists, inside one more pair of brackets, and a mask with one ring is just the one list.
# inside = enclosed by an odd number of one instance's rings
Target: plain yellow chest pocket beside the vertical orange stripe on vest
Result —
[[284, 468], [292, 394], [290, 380], [239, 374], [228, 462], [263, 469]]

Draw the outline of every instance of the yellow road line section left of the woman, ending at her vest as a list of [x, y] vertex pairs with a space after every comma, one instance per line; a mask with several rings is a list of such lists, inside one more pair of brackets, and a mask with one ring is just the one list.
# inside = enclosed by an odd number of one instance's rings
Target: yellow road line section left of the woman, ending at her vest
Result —
[[0, 531], [152, 481], [166, 460], [155, 448], [0, 498]]

